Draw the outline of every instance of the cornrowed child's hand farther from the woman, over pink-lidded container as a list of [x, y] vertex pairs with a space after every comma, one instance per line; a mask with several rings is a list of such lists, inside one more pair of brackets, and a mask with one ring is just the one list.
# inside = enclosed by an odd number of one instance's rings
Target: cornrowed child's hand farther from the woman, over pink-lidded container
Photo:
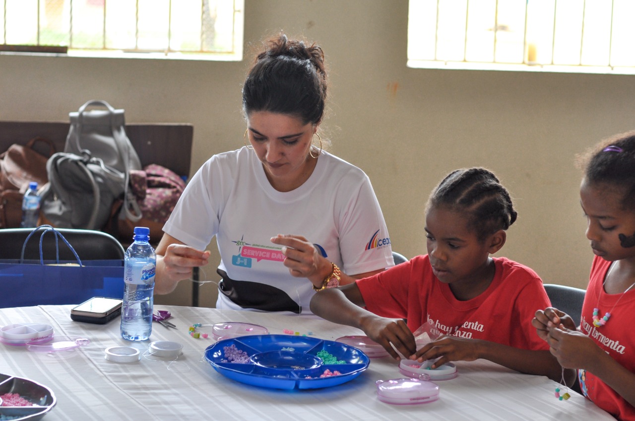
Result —
[[444, 335], [425, 344], [411, 358], [417, 359], [420, 363], [426, 359], [438, 358], [432, 364], [432, 368], [437, 368], [451, 361], [474, 361], [481, 358], [479, 356], [479, 340]]

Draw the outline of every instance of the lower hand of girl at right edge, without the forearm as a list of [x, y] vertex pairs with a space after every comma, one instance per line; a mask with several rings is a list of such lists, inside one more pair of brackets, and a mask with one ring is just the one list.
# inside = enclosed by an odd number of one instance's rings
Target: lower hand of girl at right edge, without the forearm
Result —
[[564, 368], [589, 370], [592, 363], [605, 352], [582, 332], [563, 327], [549, 327], [549, 351]]

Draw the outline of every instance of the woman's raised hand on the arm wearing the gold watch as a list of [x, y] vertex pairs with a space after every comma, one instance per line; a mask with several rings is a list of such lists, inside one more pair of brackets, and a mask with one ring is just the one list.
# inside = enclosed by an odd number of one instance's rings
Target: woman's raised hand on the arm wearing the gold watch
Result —
[[276, 235], [271, 242], [281, 245], [284, 254], [284, 266], [289, 268], [291, 276], [308, 278], [316, 287], [333, 270], [331, 262], [319, 254], [318, 249], [301, 235]]

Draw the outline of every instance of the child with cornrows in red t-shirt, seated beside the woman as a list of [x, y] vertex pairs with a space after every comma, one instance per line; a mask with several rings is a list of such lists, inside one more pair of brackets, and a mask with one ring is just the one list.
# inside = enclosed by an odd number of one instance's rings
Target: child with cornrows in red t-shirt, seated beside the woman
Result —
[[[437, 368], [483, 358], [560, 380], [558, 361], [530, 325], [535, 309], [549, 306], [540, 277], [505, 257], [490, 257], [503, 247], [514, 221], [509, 193], [492, 172], [453, 171], [427, 204], [427, 255], [324, 288], [312, 298], [311, 310], [360, 328], [396, 359], [397, 351], [420, 362], [436, 359]], [[443, 335], [417, 349], [412, 332], [425, 323]], [[566, 379], [574, 378], [569, 370]]]

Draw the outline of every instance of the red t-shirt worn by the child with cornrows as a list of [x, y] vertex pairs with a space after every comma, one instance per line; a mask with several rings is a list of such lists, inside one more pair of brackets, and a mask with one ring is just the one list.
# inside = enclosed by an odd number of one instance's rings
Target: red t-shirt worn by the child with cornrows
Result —
[[468, 301], [458, 301], [448, 284], [434, 276], [427, 255], [358, 280], [357, 285], [368, 311], [405, 318], [412, 332], [430, 323], [441, 334], [521, 349], [549, 349], [531, 325], [536, 311], [551, 305], [542, 280], [530, 268], [505, 257], [495, 257], [494, 262], [490, 286]]

